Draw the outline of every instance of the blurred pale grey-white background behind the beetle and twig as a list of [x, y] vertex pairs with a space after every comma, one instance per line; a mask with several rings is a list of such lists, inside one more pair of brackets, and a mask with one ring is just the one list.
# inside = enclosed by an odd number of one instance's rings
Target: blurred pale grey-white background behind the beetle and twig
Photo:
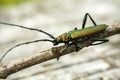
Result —
[[[97, 24], [120, 22], [119, 0], [0, 0], [0, 21], [42, 29], [54, 36], [81, 28], [85, 13]], [[93, 25], [88, 19], [86, 26]], [[48, 38], [43, 33], [0, 24], [0, 57], [12, 46]], [[120, 35], [79, 52], [32, 66], [10, 75], [7, 80], [119, 80]], [[15, 48], [3, 59], [6, 65], [53, 47], [40, 42]]]

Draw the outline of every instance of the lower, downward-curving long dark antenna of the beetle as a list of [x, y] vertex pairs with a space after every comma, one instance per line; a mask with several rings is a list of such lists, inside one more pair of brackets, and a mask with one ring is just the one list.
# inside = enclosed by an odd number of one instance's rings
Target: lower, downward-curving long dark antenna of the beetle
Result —
[[34, 41], [29, 41], [29, 42], [24, 42], [24, 43], [17, 44], [15, 46], [13, 46], [12, 48], [8, 49], [7, 52], [5, 52], [3, 54], [3, 56], [0, 58], [0, 63], [3, 60], [3, 58], [7, 55], [7, 53], [10, 52], [11, 50], [13, 50], [14, 48], [19, 47], [21, 45], [26, 45], [26, 44], [30, 44], [30, 43], [36, 43], [36, 42], [40, 42], [40, 41], [49, 41], [49, 42], [52, 42], [52, 43], [54, 42], [54, 41], [49, 40], [49, 39], [40, 39], [40, 40], [34, 40]]

